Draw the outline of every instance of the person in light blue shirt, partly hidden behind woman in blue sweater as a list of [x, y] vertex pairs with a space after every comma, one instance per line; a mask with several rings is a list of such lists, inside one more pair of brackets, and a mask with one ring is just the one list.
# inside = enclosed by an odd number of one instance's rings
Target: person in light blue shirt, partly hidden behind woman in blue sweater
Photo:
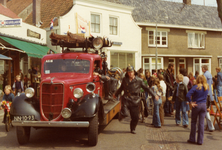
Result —
[[[207, 84], [209, 85], [207, 101], [210, 103], [209, 105], [211, 105], [211, 102], [213, 101], [212, 88], [211, 88], [211, 85], [213, 84], [212, 75], [208, 71], [208, 66], [207, 65], [202, 66], [202, 71], [204, 72], [204, 76], [207, 80]], [[206, 111], [206, 120], [207, 120], [207, 126], [208, 126], [209, 131], [213, 132], [215, 130], [215, 128], [214, 128], [214, 125], [211, 121], [209, 111]]]

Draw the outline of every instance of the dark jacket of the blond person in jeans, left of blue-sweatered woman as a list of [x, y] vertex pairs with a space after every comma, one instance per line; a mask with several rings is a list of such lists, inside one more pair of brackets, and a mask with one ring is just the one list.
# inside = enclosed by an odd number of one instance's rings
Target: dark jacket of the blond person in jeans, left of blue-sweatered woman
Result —
[[186, 95], [187, 95], [187, 86], [182, 82], [179, 83], [179, 88], [178, 88], [178, 96], [176, 96], [177, 94], [177, 86], [178, 83], [174, 84], [174, 93], [173, 93], [173, 99], [172, 101], [176, 101], [176, 97], [179, 99], [179, 101], [186, 101]]

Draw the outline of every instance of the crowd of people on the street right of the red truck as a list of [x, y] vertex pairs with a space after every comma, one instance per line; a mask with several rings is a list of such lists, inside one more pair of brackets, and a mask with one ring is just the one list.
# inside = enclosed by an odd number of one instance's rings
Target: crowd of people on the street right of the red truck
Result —
[[[116, 92], [117, 96], [124, 91], [119, 120], [127, 116], [126, 109], [128, 108], [132, 118], [130, 129], [135, 134], [139, 120], [140, 105], [138, 103], [139, 99], [144, 98], [147, 108], [152, 102], [154, 127], [161, 128], [164, 125], [164, 117], [174, 116], [176, 126], [182, 123], [182, 127], [187, 128], [188, 116], [191, 116], [191, 131], [187, 142], [202, 145], [204, 118], [206, 118], [208, 130], [210, 132], [215, 130], [209, 112], [212, 101], [214, 99], [217, 101], [217, 96], [222, 96], [221, 68], [216, 68], [217, 75], [214, 78], [206, 65], [202, 66], [202, 75], [198, 71], [195, 74], [192, 72], [187, 74], [186, 69], [180, 68], [179, 74], [174, 78], [174, 67], [174, 64], [169, 64], [166, 70], [159, 69], [152, 73], [146, 70], [145, 75], [142, 68], [138, 71], [135, 71], [132, 66], [123, 69], [126, 75]], [[130, 87], [131, 84], [134, 86]], [[140, 98], [138, 98], [138, 93], [140, 93]], [[196, 131], [198, 131], [197, 140]]]

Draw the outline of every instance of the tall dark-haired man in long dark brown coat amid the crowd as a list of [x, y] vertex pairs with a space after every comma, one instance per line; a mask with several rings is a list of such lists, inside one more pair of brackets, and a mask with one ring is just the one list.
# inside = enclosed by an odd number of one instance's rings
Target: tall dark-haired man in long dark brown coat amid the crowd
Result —
[[174, 75], [173, 75], [173, 70], [174, 70], [174, 64], [170, 63], [168, 65], [167, 70], [164, 73], [164, 81], [167, 85], [167, 90], [166, 90], [166, 103], [164, 104], [164, 113], [165, 116], [171, 116], [172, 113], [172, 104], [170, 102], [170, 97], [173, 95], [173, 90], [174, 90]]

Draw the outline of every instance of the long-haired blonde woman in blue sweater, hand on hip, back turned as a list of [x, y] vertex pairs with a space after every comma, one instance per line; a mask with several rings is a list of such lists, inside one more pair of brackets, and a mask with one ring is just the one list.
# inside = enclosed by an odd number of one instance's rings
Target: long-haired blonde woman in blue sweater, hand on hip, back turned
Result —
[[[191, 116], [191, 131], [190, 138], [187, 140], [188, 143], [197, 143], [198, 145], [203, 144], [204, 138], [204, 118], [206, 115], [206, 102], [209, 91], [209, 85], [204, 75], [199, 75], [196, 79], [197, 84], [187, 93], [186, 98], [192, 106]], [[192, 96], [192, 100], [191, 100]], [[196, 140], [196, 125], [197, 118], [199, 118], [198, 125], [198, 136]]]

